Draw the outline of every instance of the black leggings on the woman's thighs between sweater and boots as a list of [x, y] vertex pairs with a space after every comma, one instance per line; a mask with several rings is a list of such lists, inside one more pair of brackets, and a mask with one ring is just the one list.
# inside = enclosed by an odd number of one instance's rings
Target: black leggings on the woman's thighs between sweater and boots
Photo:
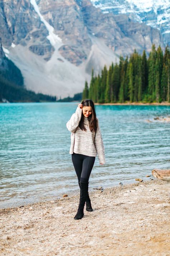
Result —
[[71, 158], [78, 181], [82, 183], [89, 182], [89, 177], [94, 165], [95, 157], [73, 153]]

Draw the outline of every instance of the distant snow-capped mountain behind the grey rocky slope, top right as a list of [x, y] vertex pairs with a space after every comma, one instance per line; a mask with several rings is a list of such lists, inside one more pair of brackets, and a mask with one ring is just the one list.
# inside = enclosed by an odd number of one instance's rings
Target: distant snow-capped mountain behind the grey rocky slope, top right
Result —
[[170, 45], [170, 0], [91, 0], [103, 13], [126, 14], [129, 18], [160, 30]]

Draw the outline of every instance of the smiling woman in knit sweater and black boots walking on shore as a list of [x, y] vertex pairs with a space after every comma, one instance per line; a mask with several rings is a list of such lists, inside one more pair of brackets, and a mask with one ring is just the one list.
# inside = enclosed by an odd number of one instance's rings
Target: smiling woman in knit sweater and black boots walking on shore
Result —
[[101, 165], [105, 163], [104, 145], [93, 101], [83, 100], [66, 126], [71, 131], [70, 154], [80, 187], [80, 203], [74, 217], [79, 220], [84, 216], [85, 202], [86, 211], [93, 211], [88, 186], [96, 155]]

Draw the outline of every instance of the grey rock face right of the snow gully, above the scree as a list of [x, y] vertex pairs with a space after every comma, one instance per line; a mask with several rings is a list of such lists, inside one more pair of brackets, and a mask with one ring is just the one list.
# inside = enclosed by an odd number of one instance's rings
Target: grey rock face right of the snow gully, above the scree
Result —
[[90, 53], [91, 35], [102, 39], [116, 54], [126, 56], [134, 49], [142, 53], [153, 43], [164, 47], [159, 31], [133, 22], [126, 15], [102, 13], [90, 0], [38, 1], [43, 17], [55, 28], [64, 43], [59, 49], [69, 62], [79, 66]]

